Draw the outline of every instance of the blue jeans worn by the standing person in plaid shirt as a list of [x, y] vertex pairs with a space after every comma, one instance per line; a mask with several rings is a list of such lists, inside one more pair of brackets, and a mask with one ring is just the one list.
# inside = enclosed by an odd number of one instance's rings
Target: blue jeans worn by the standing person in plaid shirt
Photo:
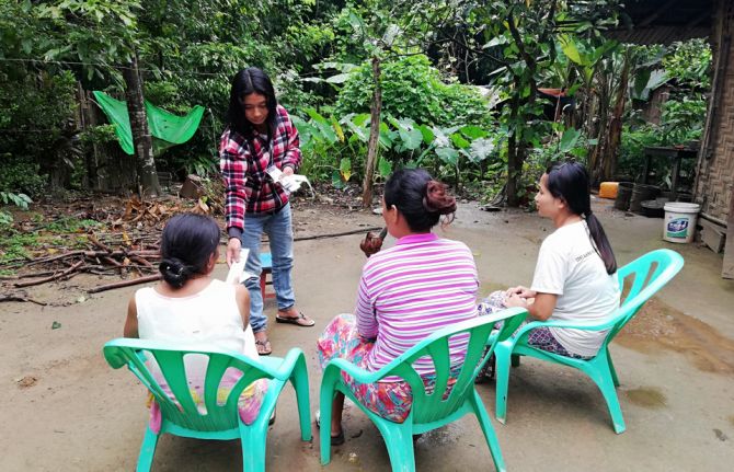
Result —
[[273, 256], [273, 288], [278, 310], [287, 310], [296, 304], [290, 272], [294, 267], [294, 231], [290, 225], [290, 204], [276, 214], [245, 214], [244, 232], [240, 241], [250, 250], [244, 268], [253, 276], [244, 280], [250, 291], [250, 325], [257, 333], [267, 327], [267, 316], [263, 313], [263, 295], [260, 291], [260, 244], [265, 232]]

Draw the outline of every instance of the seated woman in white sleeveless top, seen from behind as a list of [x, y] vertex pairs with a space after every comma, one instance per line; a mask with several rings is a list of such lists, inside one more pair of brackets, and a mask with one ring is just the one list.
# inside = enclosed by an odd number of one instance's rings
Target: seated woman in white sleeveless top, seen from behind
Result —
[[[219, 349], [241, 353], [259, 359], [255, 338], [250, 327], [250, 295], [241, 285], [211, 278], [219, 258], [220, 230], [210, 217], [195, 214], [176, 215], [169, 220], [161, 237], [159, 269], [163, 279], [154, 287], [137, 290], [130, 298], [125, 321], [125, 337], [184, 343], [192, 349]], [[204, 379], [207, 357], [184, 358], [192, 396], [204, 407]], [[154, 359], [148, 360], [151, 372], [171, 398], [165, 378]], [[242, 376], [229, 369], [218, 389], [225, 401], [229, 389]], [[267, 380], [253, 382], [240, 395], [240, 416], [252, 424], [260, 413]], [[150, 410], [150, 426], [160, 429], [160, 410], [156, 402]]]

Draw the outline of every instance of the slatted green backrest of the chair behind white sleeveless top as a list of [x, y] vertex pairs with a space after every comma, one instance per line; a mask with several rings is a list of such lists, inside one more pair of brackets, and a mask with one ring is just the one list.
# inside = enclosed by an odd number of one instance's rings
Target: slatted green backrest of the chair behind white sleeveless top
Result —
[[[273, 379], [277, 373], [259, 365], [245, 356], [217, 350], [190, 350], [168, 343], [150, 339], [118, 338], [105, 344], [104, 358], [111, 367], [118, 369], [125, 365], [144, 385], [150, 390], [158, 402], [163, 417], [184, 428], [198, 431], [229, 430], [238, 427], [238, 400], [242, 391], [257, 379]], [[184, 357], [200, 354], [208, 357], [204, 381], [204, 405], [206, 412], [199, 412], [192, 396]], [[147, 356], [152, 356], [175, 398], [172, 400], [161, 388], [148, 366]], [[242, 377], [231, 387], [226, 401], [219, 403], [217, 395], [219, 383], [227, 369], [241, 371]], [[221, 400], [221, 399], [219, 399]]]

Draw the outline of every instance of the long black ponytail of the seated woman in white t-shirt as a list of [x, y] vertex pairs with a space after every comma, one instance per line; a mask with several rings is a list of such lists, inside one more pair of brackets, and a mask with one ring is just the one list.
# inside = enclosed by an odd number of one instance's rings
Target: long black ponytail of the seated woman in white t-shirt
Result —
[[607, 268], [607, 274], [617, 272], [617, 260], [611, 250], [601, 223], [592, 212], [590, 181], [586, 169], [578, 162], [555, 163], [546, 170], [548, 191], [555, 198], [561, 198], [569, 209], [586, 220], [592, 245]]

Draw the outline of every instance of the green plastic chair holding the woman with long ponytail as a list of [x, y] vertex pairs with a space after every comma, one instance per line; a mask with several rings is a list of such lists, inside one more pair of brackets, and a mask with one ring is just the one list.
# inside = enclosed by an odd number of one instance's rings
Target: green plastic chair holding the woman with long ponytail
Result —
[[[617, 371], [609, 354], [609, 343], [617, 333], [634, 316], [657, 290], [663, 288], [683, 267], [684, 260], [680, 254], [667, 249], [649, 252], [647, 254], [632, 261], [617, 270], [622, 302], [604, 323], [594, 325], [580, 325], [561, 321], [536, 321], [520, 327], [518, 332], [504, 341], [498, 341], [495, 347], [496, 356], [496, 417], [505, 423], [507, 417], [507, 383], [509, 379], [511, 364], [519, 365], [519, 356], [531, 356], [554, 364], [573, 367], [586, 373], [596, 382], [607, 401], [611, 422], [617, 434], [624, 433], [624, 418], [619, 406], [616, 387], [619, 387]], [[626, 285], [627, 283], [627, 285]], [[629, 288], [629, 291], [627, 291]], [[609, 330], [607, 337], [601, 343], [598, 354], [592, 359], [574, 359], [558, 354], [548, 353], [527, 344], [528, 334], [531, 330], [540, 326], [572, 327], [577, 330], [603, 331]], [[490, 342], [493, 342], [490, 338]]]

